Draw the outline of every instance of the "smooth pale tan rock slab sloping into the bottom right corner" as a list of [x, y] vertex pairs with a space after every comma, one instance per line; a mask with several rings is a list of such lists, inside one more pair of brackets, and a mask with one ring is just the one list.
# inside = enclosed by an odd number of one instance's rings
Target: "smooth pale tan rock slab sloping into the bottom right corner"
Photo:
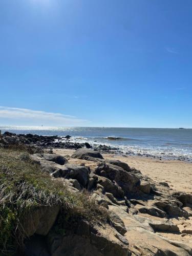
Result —
[[130, 216], [119, 206], [109, 205], [124, 222], [127, 232], [124, 237], [129, 241], [129, 249], [132, 255], [182, 255], [189, 256], [190, 248], [185, 244], [173, 243], [156, 234], [148, 224], [148, 219], [137, 215]]

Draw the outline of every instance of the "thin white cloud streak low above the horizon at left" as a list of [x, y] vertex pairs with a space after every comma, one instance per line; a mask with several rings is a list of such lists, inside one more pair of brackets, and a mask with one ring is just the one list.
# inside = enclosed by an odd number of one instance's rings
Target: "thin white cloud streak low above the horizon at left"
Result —
[[53, 125], [80, 125], [89, 122], [88, 120], [60, 113], [9, 108], [7, 106], [0, 106], [0, 118], [17, 119], [19, 121], [26, 120], [28, 123], [46, 123]]

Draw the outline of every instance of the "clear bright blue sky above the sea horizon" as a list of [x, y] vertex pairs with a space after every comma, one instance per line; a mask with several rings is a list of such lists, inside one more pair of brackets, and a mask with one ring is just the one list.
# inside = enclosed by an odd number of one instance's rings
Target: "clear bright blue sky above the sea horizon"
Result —
[[192, 128], [191, 0], [1, 0], [0, 125]]

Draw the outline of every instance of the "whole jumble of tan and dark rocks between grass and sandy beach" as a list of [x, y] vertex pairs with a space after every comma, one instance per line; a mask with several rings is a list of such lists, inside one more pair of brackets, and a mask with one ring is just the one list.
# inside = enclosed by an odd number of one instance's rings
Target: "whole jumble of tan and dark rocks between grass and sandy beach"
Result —
[[[93, 227], [81, 220], [58, 238], [49, 230], [59, 209], [41, 209], [39, 221], [28, 234], [36, 236], [26, 242], [27, 255], [34, 248], [33, 255], [192, 255], [189, 245], [161, 236], [161, 232], [192, 234], [187, 229], [181, 232], [171, 220], [192, 216], [192, 195], [172, 190], [165, 182], [156, 183], [126, 163], [105, 160], [91, 149], [79, 148], [71, 156], [88, 164], [72, 164], [63, 156], [47, 153], [33, 154], [31, 159], [74, 193], [87, 189], [93, 200], [109, 210], [112, 223]], [[90, 162], [94, 167], [89, 167]], [[49, 239], [48, 250], [45, 238]]]

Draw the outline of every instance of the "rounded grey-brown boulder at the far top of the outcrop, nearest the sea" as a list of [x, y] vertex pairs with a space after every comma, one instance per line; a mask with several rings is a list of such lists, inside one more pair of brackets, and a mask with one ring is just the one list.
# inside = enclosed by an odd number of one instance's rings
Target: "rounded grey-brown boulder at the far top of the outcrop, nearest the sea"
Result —
[[71, 157], [89, 161], [101, 161], [103, 159], [102, 155], [98, 151], [86, 148], [79, 148]]

